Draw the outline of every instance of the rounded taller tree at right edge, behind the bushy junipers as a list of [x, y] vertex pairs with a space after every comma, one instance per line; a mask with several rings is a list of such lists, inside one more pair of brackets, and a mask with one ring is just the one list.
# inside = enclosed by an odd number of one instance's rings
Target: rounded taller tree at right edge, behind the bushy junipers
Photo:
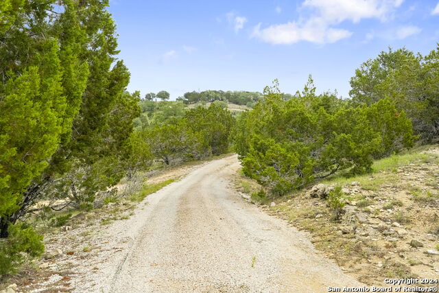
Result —
[[[374, 104], [390, 99], [412, 119], [416, 134], [424, 140], [439, 135], [439, 49], [427, 56], [405, 48], [381, 51], [364, 62], [351, 78], [350, 95], [355, 104]], [[394, 113], [399, 115], [399, 111]]]

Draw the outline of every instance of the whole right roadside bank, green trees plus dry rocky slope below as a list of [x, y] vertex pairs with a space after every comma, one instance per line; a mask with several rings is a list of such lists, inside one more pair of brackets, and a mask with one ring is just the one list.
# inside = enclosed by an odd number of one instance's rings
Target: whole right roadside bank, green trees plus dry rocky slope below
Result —
[[369, 285], [436, 278], [439, 49], [383, 51], [351, 79], [351, 99], [277, 84], [237, 119], [244, 198], [310, 233]]

